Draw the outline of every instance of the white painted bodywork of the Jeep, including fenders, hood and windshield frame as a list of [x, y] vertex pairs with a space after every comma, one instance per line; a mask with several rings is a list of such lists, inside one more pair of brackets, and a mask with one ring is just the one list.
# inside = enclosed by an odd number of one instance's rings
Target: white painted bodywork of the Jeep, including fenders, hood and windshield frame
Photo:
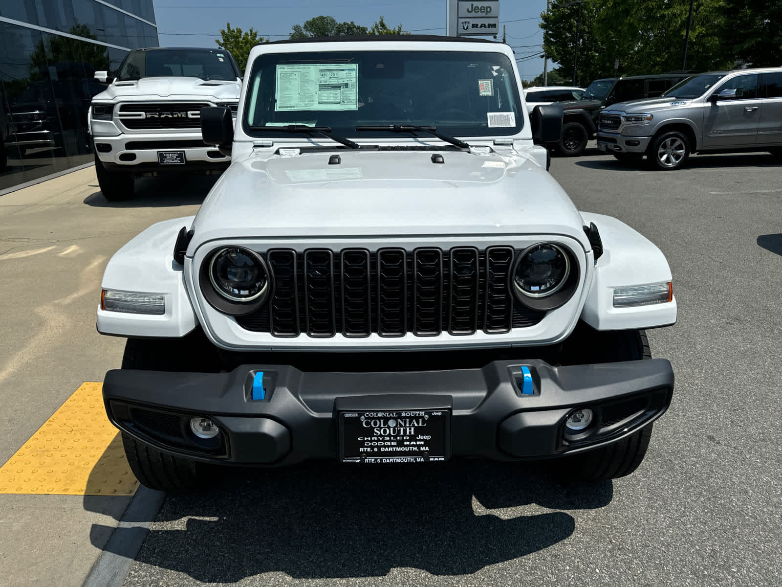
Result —
[[[355, 49], [355, 43], [320, 43], [321, 51]], [[502, 44], [368, 41], [367, 50], [501, 52]], [[249, 62], [264, 52], [310, 52], [312, 44], [259, 45]], [[248, 70], [252, 64], [248, 64]], [[520, 94], [522, 92], [519, 92]], [[245, 96], [239, 101], [242, 117]], [[546, 151], [535, 146], [526, 108], [522, 131], [507, 137], [462, 137], [472, 152], [442, 152], [433, 164], [426, 151], [353, 151], [340, 149], [339, 166], [328, 166], [328, 152], [283, 156], [280, 147], [332, 146], [329, 139], [290, 136], [259, 141], [235, 128], [232, 162], [206, 196], [195, 217], [161, 222], [142, 232], [109, 261], [102, 286], [166, 295], [166, 314], [141, 316], [101, 312], [103, 333], [142, 337], [181, 337], [201, 324], [207, 337], [234, 350], [356, 351], [425, 348], [486, 348], [555, 344], [579, 319], [601, 330], [662, 326], [676, 319], [676, 303], [665, 308], [622, 308], [612, 304], [612, 288], [669, 281], [660, 250], [622, 222], [599, 214], [580, 214], [561, 186], [545, 171]], [[95, 126], [95, 125], [94, 125]], [[394, 139], [351, 137], [381, 145], [442, 145], [439, 139], [400, 135]], [[498, 140], [500, 139], [500, 140]], [[499, 144], [502, 143], [502, 144]], [[594, 262], [583, 225], [594, 221], [604, 255]], [[179, 229], [195, 232], [184, 267], [173, 261]], [[245, 330], [217, 312], [199, 290], [197, 270], [218, 247], [239, 244], [254, 250], [289, 247], [441, 247], [480, 249], [511, 245], [517, 249], [551, 241], [572, 250], [579, 265], [576, 294], [548, 312], [536, 326], [505, 334], [387, 338], [372, 334], [349, 338], [273, 337]]]

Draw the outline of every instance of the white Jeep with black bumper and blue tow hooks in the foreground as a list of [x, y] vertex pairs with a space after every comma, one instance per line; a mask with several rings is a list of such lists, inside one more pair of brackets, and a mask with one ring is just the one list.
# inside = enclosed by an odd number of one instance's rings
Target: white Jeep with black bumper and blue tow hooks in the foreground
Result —
[[561, 106], [530, 114], [508, 45], [277, 41], [249, 56], [231, 166], [195, 216], [109, 261], [99, 332], [127, 337], [103, 397], [139, 481], [204, 466], [550, 459], [637, 468], [673, 370], [662, 252], [579, 212], [547, 172]]

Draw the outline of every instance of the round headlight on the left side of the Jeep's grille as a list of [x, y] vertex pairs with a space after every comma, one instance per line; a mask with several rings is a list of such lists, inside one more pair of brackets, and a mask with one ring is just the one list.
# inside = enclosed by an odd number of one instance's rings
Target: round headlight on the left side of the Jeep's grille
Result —
[[209, 264], [209, 279], [217, 294], [233, 302], [258, 300], [269, 290], [263, 259], [242, 247], [217, 251]]

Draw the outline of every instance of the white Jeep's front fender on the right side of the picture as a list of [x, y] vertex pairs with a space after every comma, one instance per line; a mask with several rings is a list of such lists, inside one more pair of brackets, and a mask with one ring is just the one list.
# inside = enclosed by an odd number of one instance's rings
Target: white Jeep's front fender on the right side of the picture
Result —
[[603, 214], [583, 212], [584, 224], [600, 231], [604, 254], [597, 259], [594, 281], [581, 318], [597, 330], [668, 326], [676, 322], [676, 297], [664, 304], [614, 308], [614, 288], [667, 283], [672, 280], [665, 255], [640, 232]]

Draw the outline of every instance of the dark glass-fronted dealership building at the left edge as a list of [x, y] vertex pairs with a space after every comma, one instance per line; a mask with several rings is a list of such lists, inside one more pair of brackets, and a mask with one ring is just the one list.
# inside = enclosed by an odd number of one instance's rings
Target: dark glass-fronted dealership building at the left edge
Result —
[[95, 71], [158, 45], [152, 0], [2, 0], [0, 193], [90, 163]]

